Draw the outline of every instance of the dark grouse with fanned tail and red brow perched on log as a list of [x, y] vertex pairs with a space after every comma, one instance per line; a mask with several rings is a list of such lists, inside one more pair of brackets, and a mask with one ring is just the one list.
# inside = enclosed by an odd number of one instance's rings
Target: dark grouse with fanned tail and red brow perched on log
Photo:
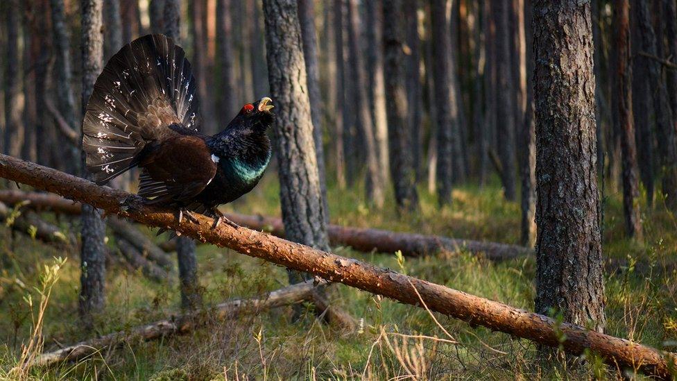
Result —
[[[243, 105], [216, 133], [200, 132], [196, 80], [170, 37], [145, 35], [120, 49], [94, 83], [83, 119], [87, 171], [98, 185], [134, 167], [139, 196], [151, 205], [192, 212], [237, 227], [218, 210], [259, 183], [271, 161], [266, 134], [275, 121], [264, 96]], [[227, 94], [230, 96], [230, 94]]]

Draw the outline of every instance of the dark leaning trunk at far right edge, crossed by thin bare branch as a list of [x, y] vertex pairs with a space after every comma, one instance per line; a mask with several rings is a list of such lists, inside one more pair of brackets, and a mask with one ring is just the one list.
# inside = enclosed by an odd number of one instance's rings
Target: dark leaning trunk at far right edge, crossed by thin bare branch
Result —
[[[651, 26], [649, 4], [644, 0], [633, 0], [632, 7], [640, 35], [640, 44], [637, 48], [656, 56], [657, 43]], [[662, 167], [662, 193], [665, 194], [667, 206], [671, 210], [677, 210], [677, 140], [669, 96], [660, 74], [660, 63], [651, 59], [645, 62], [646, 72], [649, 74], [647, 82], [653, 94], [653, 112]]]

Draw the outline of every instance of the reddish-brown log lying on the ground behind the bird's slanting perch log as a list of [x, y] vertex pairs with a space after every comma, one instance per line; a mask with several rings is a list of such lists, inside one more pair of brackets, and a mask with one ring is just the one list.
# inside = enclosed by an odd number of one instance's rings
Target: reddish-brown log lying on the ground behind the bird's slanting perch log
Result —
[[[50, 208], [55, 212], [80, 213], [80, 205], [65, 200], [53, 194], [22, 191], [0, 191], [0, 201], [17, 203], [31, 201], [31, 206]], [[249, 216], [246, 214], [228, 213], [226, 217], [241, 226], [255, 230], [266, 230], [284, 237], [282, 219], [263, 216]], [[388, 230], [350, 228], [330, 224], [327, 226], [329, 240], [334, 246], [350, 246], [358, 251], [378, 251], [380, 253], [395, 253], [402, 251], [402, 255], [418, 257], [435, 254], [440, 251], [455, 253], [462, 248], [472, 253], [484, 253], [490, 260], [508, 260], [522, 255], [533, 255], [533, 249], [524, 246], [498, 244], [495, 242], [474, 241], [472, 239], [456, 239], [437, 235], [421, 235]], [[175, 243], [166, 242], [161, 245], [164, 251], [174, 251]]]

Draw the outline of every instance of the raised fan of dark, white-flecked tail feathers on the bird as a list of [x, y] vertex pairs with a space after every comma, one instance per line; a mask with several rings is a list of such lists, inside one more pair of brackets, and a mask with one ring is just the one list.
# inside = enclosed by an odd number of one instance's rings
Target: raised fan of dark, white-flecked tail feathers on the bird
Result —
[[196, 83], [183, 49], [146, 35], [116, 53], [96, 79], [83, 121], [87, 169], [97, 183], [139, 162], [144, 146], [180, 123], [196, 129]]

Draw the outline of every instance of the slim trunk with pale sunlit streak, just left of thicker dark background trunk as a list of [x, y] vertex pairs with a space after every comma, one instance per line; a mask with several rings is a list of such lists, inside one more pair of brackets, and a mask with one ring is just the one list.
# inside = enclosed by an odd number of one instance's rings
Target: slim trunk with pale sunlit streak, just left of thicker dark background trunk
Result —
[[386, 90], [383, 77], [383, 10], [380, 1], [366, 1], [367, 67], [371, 117], [374, 139], [379, 155], [379, 168], [384, 185], [390, 177], [388, 162], [388, 121], [386, 120]]

